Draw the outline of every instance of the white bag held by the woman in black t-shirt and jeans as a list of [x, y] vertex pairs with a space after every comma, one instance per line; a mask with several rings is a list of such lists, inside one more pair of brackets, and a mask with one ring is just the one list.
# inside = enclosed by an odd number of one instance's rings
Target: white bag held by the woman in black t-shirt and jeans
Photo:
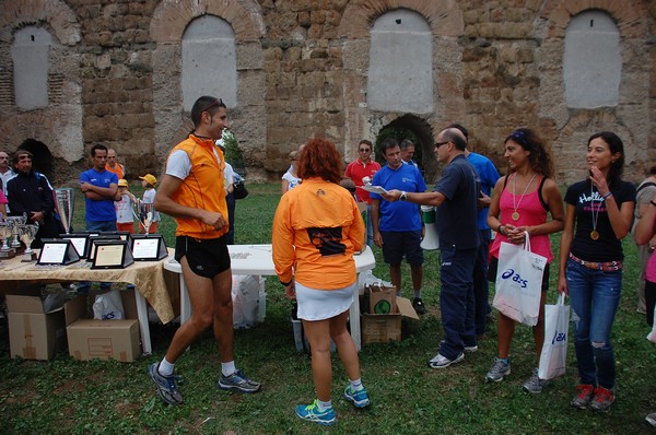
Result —
[[544, 344], [538, 368], [540, 379], [565, 374], [569, 328], [570, 306], [565, 305], [565, 294], [561, 293], [555, 305], [544, 305]]

